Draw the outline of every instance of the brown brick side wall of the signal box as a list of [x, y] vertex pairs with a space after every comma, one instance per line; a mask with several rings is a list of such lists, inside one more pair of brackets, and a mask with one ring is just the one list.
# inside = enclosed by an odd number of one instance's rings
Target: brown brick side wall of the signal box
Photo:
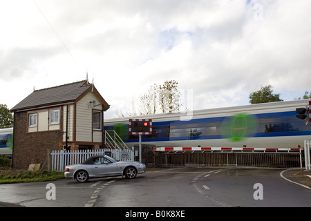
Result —
[[13, 169], [28, 169], [29, 164], [43, 165], [48, 149], [61, 148], [62, 131], [27, 133], [27, 112], [14, 114]]

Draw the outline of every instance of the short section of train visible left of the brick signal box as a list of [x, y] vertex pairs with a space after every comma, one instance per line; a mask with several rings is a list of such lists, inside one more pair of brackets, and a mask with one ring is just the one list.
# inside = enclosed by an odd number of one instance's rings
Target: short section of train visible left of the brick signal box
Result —
[[0, 129], [0, 155], [12, 156], [13, 128]]

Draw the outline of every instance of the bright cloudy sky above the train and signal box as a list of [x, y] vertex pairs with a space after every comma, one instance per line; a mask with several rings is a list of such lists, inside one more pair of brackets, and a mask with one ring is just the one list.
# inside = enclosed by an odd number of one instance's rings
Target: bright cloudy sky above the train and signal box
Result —
[[311, 92], [310, 0], [0, 0], [0, 104], [86, 79], [111, 105], [176, 80], [189, 110]]

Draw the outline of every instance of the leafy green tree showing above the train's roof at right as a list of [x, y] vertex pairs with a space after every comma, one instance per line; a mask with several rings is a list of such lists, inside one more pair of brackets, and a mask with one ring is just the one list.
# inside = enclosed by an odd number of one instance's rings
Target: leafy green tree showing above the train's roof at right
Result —
[[261, 90], [255, 91], [249, 95], [249, 103], [251, 104], [261, 104], [269, 102], [283, 102], [283, 99], [280, 99], [280, 94], [272, 94], [272, 86], [261, 86]]

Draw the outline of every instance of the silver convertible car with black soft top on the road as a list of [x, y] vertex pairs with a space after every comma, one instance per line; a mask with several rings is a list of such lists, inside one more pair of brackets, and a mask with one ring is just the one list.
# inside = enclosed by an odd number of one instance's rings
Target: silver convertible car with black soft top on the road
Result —
[[77, 182], [90, 178], [123, 176], [133, 179], [138, 173], [146, 172], [146, 165], [135, 161], [117, 161], [107, 155], [88, 157], [82, 164], [66, 166], [65, 177]]

